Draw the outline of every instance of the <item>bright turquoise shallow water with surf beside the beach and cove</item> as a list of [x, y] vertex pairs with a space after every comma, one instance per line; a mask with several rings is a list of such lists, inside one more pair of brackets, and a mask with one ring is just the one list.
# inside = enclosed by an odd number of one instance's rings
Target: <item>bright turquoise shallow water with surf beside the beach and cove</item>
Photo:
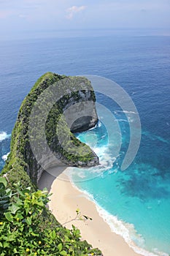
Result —
[[[112, 111], [111, 105], [109, 110]], [[115, 109], [113, 115], [123, 131], [120, 154], [115, 159], [113, 141], [115, 144], [118, 141], [114, 130], [109, 134], [112, 138], [108, 138], [107, 129], [112, 122], [106, 119], [107, 122], [103, 124], [101, 118], [95, 129], [76, 134], [77, 138], [96, 151], [101, 166], [90, 168], [90, 171], [75, 168], [72, 180], [79, 189], [93, 195], [99, 214], [136, 252], [167, 255], [170, 253], [169, 173], [161, 173], [153, 165], [152, 159], [150, 163], [141, 161], [147, 154], [142, 148], [133, 164], [127, 170], [120, 170], [124, 149], [129, 141], [129, 129], [123, 112]], [[98, 109], [98, 116], [102, 116], [102, 108]], [[169, 140], [143, 130], [142, 146], [146, 142], [169, 147]]]

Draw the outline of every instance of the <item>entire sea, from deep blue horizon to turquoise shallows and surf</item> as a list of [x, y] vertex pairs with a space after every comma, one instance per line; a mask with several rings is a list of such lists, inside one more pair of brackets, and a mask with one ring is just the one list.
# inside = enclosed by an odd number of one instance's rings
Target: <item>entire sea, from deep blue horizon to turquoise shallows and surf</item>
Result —
[[[136, 252], [170, 254], [170, 37], [68, 37], [0, 42], [0, 169], [9, 153], [12, 128], [28, 91], [47, 71], [99, 75], [114, 80], [136, 105], [142, 139], [134, 162], [120, 170], [130, 130], [125, 111], [96, 94], [120, 126], [122, 146], [115, 159], [108, 146], [112, 121], [77, 134], [98, 154], [104, 168], [72, 174], [96, 202], [99, 214]], [[102, 109], [97, 107], [98, 115]], [[135, 113], [134, 113], [135, 115]], [[111, 136], [112, 137], [112, 136]], [[114, 132], [113, 138], [115, 140]], [[114, 159], [113, 159], [114, 158]], [[95, 173], [95, 174], [94, 174]], [[96, 175], [97, 173], [97, 175]]]

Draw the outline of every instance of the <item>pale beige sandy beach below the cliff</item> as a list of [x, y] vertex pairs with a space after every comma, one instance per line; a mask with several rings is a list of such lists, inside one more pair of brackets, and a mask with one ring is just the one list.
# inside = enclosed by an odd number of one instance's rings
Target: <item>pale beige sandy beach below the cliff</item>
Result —
[[[111, 231], [109, 225], [99, 216], [95, 203], [73, 187], [61, 170], [58, 170], [57, 178], [50, 173], [42, 173], [39, 189], [44, 187], [53, 193], [50, 197], [49, 208], [58, 222], [69, 229], [72, 225], [79, 228], [82, 239], [88, 241], [93, 247], [101, 249], [104, 256], [139, 256], [121, 236]], [[77, 208], [92, 220], [72, 220], [76, 217]]]

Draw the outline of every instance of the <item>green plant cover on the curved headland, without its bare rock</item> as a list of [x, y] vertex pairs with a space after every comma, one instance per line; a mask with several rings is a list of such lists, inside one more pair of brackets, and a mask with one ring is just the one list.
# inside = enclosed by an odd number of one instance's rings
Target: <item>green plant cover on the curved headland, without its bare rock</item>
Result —
[[[77, 91], [77, 86], [79, 91]], [[49, 89], [47, 91], [47, 89]], [[76, 90], [75, 90], [75, 89]], [[66, 94], [66, 91], [68, 93]], [[80, 143], [77, 138], [70, 132], [70, 129], [66, 123], [66, 119], [63, 116], [63, 108], [70, 102], [79, 102], [85, 99], [80, 97], [80, 91], [85, 94], [85, 91], [90, 91], [90, 100], [95, 101], [95, 94], [90, 82], [86, 78], [78, 77], [66, 77], [65, 75], [56, 75], [51, 72], [47, 72], [42, 75], [35, 83], [28, 96], [23, 100], [20, 107], [18, 118], [15, 123], [15, 127], [12, 131], [10, 154], [7, 159], [7, 163], [2, 173], [8, 173], [9, 179], [13, 181], [20, 180], [23, 176], [23, 184], [25, 187], [30, 185], [29, 178], [36, 184], [38, 178], [38, 171], [41, 169], [39, 162], [37, 162], [35, 154], [33, 154], [30, 138], [28, 133], [30, 116], [32, 109], [37, 105], [37, 115], [31, 116], [31, 122], [34, 124], [34, 148], [39, 148], [40, 154], [44, 150], [53, 152], [56, 158], [61, 162], [71, 166], [85, 166], [98, 164], [98, 158], [96, 154], [85, 144]], [[42, 98], [43, 101], [38, 102], [39, 96], [46, 92]], [[65, 94], [63, 94], [65, 92]], [[54, 95], [61, 95], [59, 99], [51, 106]], [[37, 103], [38, 102], [38, 103]], [[39, 113], [45, 113], [49, 109], [47, 120]], [[60, 121], [60, 125], [58, 125]], [[47, 138], [47, 146], [45, 148], [43, 139], [42, 127], [45, 125], [45, 136]], [[63, 140], [58, 140], [60, 134]], [[78, 154], [72, 148], [76, 148]], [[81, 152], [82, 151], [82, 152]], [[38, 152], [38, 154], [39, 154]], [[81, 154], [82, 153], [82, 154]], [[49, 151], [46, 151], [49, 154]], [[24, 173], [23, 175], [23, 171]], [[20, 174], [22, 173], [22, 175]]]

